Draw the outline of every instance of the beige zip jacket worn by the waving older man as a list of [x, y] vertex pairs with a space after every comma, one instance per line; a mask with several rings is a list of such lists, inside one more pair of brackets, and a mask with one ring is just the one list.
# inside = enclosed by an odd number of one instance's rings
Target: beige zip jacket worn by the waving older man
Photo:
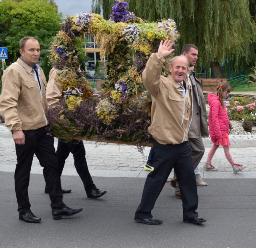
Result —
[[152, 97], [149, 133], [160, 144], [181, 144], [188, 140], [191, 117], [191, 88], [187, 92], [168, 75], [161, 76], [164, 58], [154, 53], [142, 72], [144, 86]]

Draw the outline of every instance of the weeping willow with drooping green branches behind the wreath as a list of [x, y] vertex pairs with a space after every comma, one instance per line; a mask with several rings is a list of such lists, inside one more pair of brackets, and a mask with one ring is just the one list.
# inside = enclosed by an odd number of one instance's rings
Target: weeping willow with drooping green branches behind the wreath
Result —
[[[175, 20], [181, 35], [178, 52], [186, 43], [198, 46], [196, 70], [211, 68], [213, 78], [227, 71], [237, 75], [256, 61], [256, 0], [127, 0], [129, 11], [148, 21]], [[109, 18], [114, 0], [92, 0], [92, 10]], [[225, 64], [225, 72], [221, 63]], [[225, 73], [225, 76], [224, 76]]]

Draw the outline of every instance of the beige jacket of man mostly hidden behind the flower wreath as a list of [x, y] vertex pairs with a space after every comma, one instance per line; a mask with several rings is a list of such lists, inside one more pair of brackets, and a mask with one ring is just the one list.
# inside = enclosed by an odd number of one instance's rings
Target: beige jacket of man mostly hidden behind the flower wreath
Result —
[[57, 69], [52, 68], [49, 73], [49, 80], [46, 87], [46, 99], [49, 106], [58, 104], [62, 94], [61, 84], [54, 80], [57, 71]]

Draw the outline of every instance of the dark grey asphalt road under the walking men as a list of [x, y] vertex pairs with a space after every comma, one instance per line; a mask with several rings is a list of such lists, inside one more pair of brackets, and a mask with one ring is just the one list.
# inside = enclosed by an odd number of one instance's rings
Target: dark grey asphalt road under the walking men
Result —
[[145, 178], [94, 177], [108, 192], [99, 199], [86, 197], [78, 176], [62, 176], [64, 195], [71, 208], [84, 210], [72, 217], [53, 220], [50, 199], [44, 194], [44, 178], [30, 175], [31, 210], [42, 222], [18, 220], [14, 173], [0, 172], [0, 247], [92, 248], [255, 248], [256, 180], [208, 179], [198, 187], [200, 225], [182, 222], [182, 201], [166, 183], [152, 214], [161, 225], [134, 222]]

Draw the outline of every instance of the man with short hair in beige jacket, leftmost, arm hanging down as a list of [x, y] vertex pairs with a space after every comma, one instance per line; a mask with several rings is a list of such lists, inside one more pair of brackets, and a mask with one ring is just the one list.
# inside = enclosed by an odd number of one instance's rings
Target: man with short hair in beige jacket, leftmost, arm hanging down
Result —
[[34, 37], [20, 40], [17, 62], [11, 64], [2, 76], [0, 114], [12, 132], [17, 164], [14, 174], [19, 219], [29, 223], [40, 222], [30, 210], [28, 185], [34, 154], [44, 167], [44, 179], [49, 190], [54, 220], [82, 211], [68, 208], [62, 202], [58, 161], [54, 138], [46, 133], [46, 78], [36, 63], [40, 45]]

